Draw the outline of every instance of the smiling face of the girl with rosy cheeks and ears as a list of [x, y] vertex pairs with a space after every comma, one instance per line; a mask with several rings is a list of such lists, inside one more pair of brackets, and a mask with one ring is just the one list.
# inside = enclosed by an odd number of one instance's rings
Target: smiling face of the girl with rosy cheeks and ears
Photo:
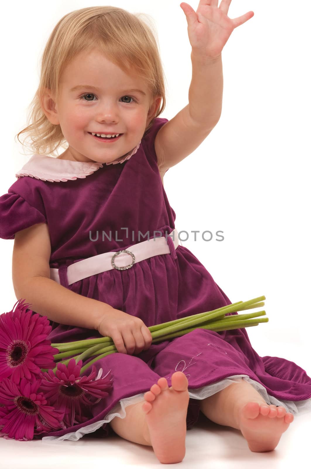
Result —
[[[69, 144], [59, 158], [74, 161], [108, 163], [126, 155], [141, 141], [161, 102], [161, 97], [151, 99], [135, 74], [126, 75], [96, 50], [83, 51], [67, 66], [59, 93], [57, 102], [45, 96], [44, 113], [60, 125]], [[47, 108], [50, 98], [53, 110]], [[122, 135], [105, 142], [92, 133]]]

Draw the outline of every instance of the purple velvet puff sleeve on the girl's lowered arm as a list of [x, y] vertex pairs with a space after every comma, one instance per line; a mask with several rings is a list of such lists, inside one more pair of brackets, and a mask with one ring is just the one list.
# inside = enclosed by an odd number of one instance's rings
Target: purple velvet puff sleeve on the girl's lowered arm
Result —
[[0, 238], [14, 239], [17, 231], [43, 222], [44, 214], [19, 194], [9, 190], [0, 197]]

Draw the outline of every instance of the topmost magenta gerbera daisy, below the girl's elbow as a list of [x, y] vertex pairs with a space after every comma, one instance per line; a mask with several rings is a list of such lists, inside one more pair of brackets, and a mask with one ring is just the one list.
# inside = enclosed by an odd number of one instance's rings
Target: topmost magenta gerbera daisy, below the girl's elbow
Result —
[[54, 354], [59, 353], [51, 346], [47, 336], [52, 326], [46, 316], [32, 310], [29, 304], [19, 300], [15, 311], [0, 315], [0, 381], [10, 377], [18, 384], [21, 378], [32, 380], [41, 373], [41, 368], [55, 367]]

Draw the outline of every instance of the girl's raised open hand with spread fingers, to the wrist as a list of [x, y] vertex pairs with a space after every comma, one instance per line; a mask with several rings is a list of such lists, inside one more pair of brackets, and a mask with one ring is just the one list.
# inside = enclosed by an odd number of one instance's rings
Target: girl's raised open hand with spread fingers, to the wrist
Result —
[[230, 19], [231, 0], [200, 0], [197, 11], [185, 2], [180, 4], [188, 23], [188, 36], [195, 55], [216, 58], [222, 53], [232, 31], [254, 15], [253, 11]]

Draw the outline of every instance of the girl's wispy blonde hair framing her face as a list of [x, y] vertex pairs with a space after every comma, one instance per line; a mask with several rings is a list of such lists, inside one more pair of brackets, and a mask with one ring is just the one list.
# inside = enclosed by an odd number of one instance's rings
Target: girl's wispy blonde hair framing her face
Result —
[[[156, 29], [152, 32], [152, 23], [148, 26], [141, 21], [142, 16], [148, 18], [148, 15], [132, 14], [122, 8], [100, 6], [74, 10], [59, 20], [44, 48], [39, 86], [28, 106], [27, 127], [17, 134], [17, 138], [23, 133], [30, 136], [32, 152], [58, 156], [55, 151], [65, 148], [66, 139], [60, 125], [47, 119], [40, 103], [45, 88], [58, 99], [64, 69], [78, 53], [94, 48], [125, 73], [136, 71], [146, 80], [152, 98], [162, 97], [162, 106], [145, 129], [145, 136], [155, 118], [163, 112], [166, 101]], [[18, 141], [22, 143], [19, 138]]]

